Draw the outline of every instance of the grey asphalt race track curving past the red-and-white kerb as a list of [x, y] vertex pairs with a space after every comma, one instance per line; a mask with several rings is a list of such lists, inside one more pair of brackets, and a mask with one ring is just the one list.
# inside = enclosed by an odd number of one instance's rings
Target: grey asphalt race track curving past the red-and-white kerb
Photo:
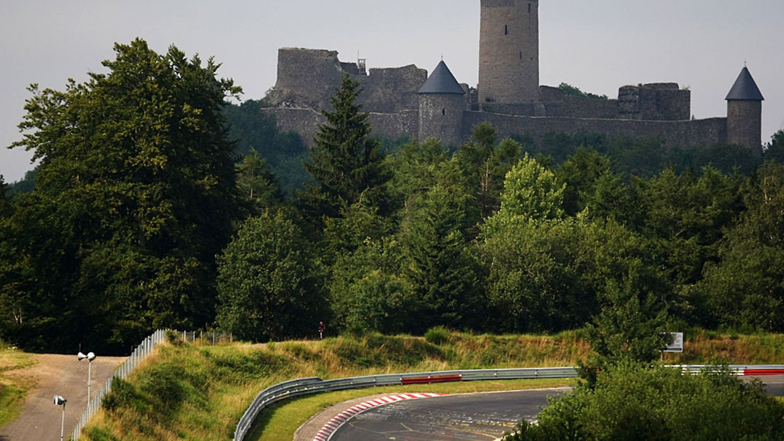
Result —
[[[784, 396], [784, 376], [758, 377], [770, 395]], [[744, 377], [750, 381], [753, 377]], [[547, 395], [568, 388], [451, 395], [390, 403], [358, 414], [332, 436], [333, 441], [498, 439], [517, 421], [533, 421]]]

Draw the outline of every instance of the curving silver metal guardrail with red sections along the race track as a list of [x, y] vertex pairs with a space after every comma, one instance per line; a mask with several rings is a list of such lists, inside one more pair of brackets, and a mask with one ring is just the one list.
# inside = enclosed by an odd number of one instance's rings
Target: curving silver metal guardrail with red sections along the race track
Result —
[[[684, 373], [696, 374], [704, 370], [704, 365], [677, 365]], [[743, 375], [746, 370], [784, 370], [784, 365], [731, 365], [731, 372]], [[532, 378], [572, 378], [577, 377], [575, 367], [539, 367], [521, 369], [479, 369], [479, 370], [441, 370], [437, 372], [415, 372], [411, 374], [383, 374], [365, 377], [339, 378], [337, 380], [321, 380], [318, 377], [300, 378], [285, 381], [264, 389], [245, 410], [234, 431], [234, 441], [243, 441], [248, 435], [253, 421], [261, 410], [272, 403], [299, 395], [317, 392], [333, 392], [343, 389], [371, 388], [374, 386], [403, 385], [405, 378], [424, 379], [426, 377], [459, 377], [459, 381], [481, 380], [522, 380]], [[457, 380], [456, 380], [457, 381]]]

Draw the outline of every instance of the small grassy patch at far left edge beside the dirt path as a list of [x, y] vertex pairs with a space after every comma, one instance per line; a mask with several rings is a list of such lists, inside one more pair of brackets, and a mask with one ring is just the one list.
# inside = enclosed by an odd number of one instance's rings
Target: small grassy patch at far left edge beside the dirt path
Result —
[[24, 370], [37, 363], [34, 356], [17, 349], [8, 348], [0, 341], [0, 427], [16, 419], [24, 405], [24, 396], [34, 387], [31, 377], [9, 374]]

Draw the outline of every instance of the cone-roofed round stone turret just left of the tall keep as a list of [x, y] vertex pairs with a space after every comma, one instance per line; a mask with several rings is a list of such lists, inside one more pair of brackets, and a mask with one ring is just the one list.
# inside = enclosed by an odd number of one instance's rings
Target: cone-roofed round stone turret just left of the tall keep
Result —
[[443, 60], [419, 89], [419, 139], [440, 138], [444, 144], [459, 144], [463, 133], [466, 91]]

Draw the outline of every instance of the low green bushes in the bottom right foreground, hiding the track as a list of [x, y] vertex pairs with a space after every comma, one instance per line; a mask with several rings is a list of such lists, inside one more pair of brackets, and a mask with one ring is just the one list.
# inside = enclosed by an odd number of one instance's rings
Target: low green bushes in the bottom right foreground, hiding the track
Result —
[[625, 363], [609, 368], [594, 388], [550, 399], [535, 424], [515, 440], [781, 439], [784, 404], [761, 383], [744, 383], [720, 367], [683, 375], [668, 367]]

